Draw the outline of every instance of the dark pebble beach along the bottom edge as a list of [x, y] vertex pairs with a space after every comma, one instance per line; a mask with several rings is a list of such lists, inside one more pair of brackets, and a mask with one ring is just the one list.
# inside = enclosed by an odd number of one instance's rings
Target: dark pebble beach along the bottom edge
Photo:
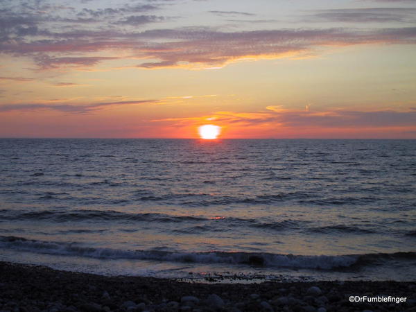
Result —
[[[349, 302], [349, 296], [406, 302]], [[207, 284], [0, 261], [0, 311], [416, 311], [416, 281]]]

